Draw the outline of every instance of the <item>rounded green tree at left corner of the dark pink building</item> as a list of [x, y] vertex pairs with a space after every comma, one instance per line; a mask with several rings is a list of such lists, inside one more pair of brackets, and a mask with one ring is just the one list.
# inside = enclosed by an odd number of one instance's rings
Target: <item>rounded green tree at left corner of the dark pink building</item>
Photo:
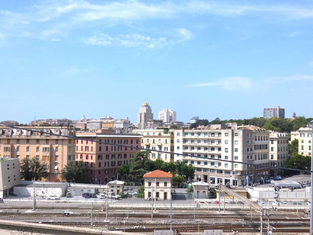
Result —
[[74, 161], [70, 161], [62, 170], [62, 178], [73, 183], [85, 183], [88, 173], [87, 169], [83, 160], [80, 160], [77, 165]]

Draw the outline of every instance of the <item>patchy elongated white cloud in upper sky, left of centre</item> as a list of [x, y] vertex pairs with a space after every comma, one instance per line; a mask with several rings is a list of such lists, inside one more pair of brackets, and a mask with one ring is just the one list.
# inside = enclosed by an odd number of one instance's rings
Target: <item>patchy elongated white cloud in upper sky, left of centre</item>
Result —
[[150, 36], [140, 34], [120, 34], [118, 37], [112, 37], [101, 32], [96, 32], [94, 36], [84, 39], [83, 42], [89, 45], [146, 48], [162, 47], [167, 44], [167, 40], [164, 37], [151, 38]]

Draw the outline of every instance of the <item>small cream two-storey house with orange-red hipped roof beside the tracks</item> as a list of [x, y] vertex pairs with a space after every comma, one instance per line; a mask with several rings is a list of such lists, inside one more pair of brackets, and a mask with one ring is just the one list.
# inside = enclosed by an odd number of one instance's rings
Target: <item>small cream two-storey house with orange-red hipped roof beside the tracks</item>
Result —
[[145, 199], [153, 197], [157, 200], [170, 200], [172, 177], [172, 174], [162, 170], [146, 173], [143, 176], [145, 179]]

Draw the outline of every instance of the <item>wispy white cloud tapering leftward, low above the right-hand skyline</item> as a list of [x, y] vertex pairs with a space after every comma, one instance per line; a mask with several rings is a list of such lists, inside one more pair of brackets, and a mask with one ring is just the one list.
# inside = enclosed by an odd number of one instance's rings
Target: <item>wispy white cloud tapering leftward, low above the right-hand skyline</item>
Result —
[[225, 90], [248, 89], [254, 85], [249, 77], [226, 77], [213, 82], [189, 84], [189, 87], [217, 86]]

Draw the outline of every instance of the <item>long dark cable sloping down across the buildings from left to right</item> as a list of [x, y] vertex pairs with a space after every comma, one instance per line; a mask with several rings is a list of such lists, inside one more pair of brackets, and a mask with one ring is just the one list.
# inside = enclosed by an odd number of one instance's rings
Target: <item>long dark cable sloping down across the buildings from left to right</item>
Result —
[[[191, 158], [195, 158], [195, 159], [205, 159], [205, 160], [210, 160], [211, 159], [211, 160], [218, 160], [218, 161], [228, 162], [228, 163], [244, 164], [244, 165], [248, 165], [248, 166], [259, 166], [261, 168], [271, 167], [271, 168], [276, 168], [276, 169], [281, 169], [281, 170], [293, 170], [293, 171], [308, 172], [308, 173], [313, 172], [311, 170], [299, 170], [299, 169], [287, 168], [287, 167], [282, 167], [282, 166], [268, 166], [268, 165], [261, 165], [261, 164], [255, 164], [255, 163], [247, 163], [247, 162], [239, 162], [239, 161], [232, 161], [232, 160], [226, 160], [226, 159], [206, 158], [206, 157], [201, 157], [201, 156], [194, 156], [194, 155], [189, 155], [189, 154], [168, 152], [168, 151], [162, 151], [162, 150], [156, 150], [156, 149], [151, 150], [151, 149], [145, 149], [145, 148], [125, 145], [125, 144], [115, 144], [115, 143], [109, 143], [109, 142], [105, 142], [105, 141], [94, 140], [94, 139], [80, 138], [80, 137], [77, 137], [77, 136], [60, 135], [60, 134], [49, 133], [49, 132], [44, 132], [44, 131], [39, 131], [39, 130], [33, 130], [33, 129], [29, 129], [29, 128], [8, 126], [8, 125], [5, 125], [5, 124], [0, 124], [0, 126], [12, 128], [12, 129], [15, 128], [15, 129], [19, 129], [19, 130], [25, 130], [25, 131], [39, 132], [39, 133], [42, 133], [42, 134], [49, 134], [49, 135], [54, 135], [54, 136], [59, 136], [59, 137], [76, 139], [76, 140], [85, 140], [85, 141], [90, 141], [90, 142], [95, 142], [95, 143], [100, 143], [100, 144], [109, 144], [109, 145], [113, 145], [113, 146], [133, 148], [133, 149], [137, 149], [137, 150], [146, 150], [146, 151], [153, 151], [153, 152], [158, 152], [158, 153], [174, 154], [174, 155], [177, 155], [177, 156], [185, 156], [185, 157], [191, 157]], [[108, 137], [110, 137], [110, 136], [108, 135]]]

